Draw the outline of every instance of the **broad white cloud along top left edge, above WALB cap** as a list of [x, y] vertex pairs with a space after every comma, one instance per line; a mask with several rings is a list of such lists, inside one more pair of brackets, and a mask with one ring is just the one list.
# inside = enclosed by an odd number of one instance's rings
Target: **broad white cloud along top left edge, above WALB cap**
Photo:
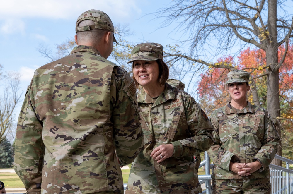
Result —
[[9, 0], [1, 2], [0, 20], [9, 18], [71, 19], [89, 9], [99, 9], [113, 20], [131, 18], [141, 10], [135, 0], [95, 0], [82, 3], [80, 0]]

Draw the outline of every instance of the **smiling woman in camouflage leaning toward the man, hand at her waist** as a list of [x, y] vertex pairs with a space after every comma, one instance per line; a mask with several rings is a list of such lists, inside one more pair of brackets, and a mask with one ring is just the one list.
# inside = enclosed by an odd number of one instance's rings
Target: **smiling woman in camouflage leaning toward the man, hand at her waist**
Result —
[[200, 193], [193, 156], [209, 149], [212, 124], [183, 83], [170, 80], [163, 47], [138, 44], [132, 49], [133, 77], [144, 132], [144, 150], [130, 169], [126, 194]]

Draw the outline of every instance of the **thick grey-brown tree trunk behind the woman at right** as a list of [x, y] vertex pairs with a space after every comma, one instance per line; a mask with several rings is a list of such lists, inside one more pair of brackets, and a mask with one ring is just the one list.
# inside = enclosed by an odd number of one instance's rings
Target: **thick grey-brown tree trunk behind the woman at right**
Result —
[[[279, 100], [279, 68], [278, 66], [278, 40], [277, 40], [277, 0], [268, 1], [268, 32], [269, 38], [266, 48], [266, 60], [269, 65], [268, 71], [268, 90], [267, 90], [267, 109], [272, 117], [276, 129], [281, 137], [281, 127], [277, 122], [277, 117], [280, 117], [280, 100]], [[282, 156], [281, 140], [277, 155]], [[280, 160], [274, 159], [272, 164], [281, 166]]]

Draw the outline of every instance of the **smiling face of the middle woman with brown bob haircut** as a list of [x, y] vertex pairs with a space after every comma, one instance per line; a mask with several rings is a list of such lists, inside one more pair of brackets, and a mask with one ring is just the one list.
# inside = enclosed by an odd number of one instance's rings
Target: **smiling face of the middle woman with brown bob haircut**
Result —
[[135, 80], [144, 88], [159, 86], [159, 65], [156, 61], [133, 61]]

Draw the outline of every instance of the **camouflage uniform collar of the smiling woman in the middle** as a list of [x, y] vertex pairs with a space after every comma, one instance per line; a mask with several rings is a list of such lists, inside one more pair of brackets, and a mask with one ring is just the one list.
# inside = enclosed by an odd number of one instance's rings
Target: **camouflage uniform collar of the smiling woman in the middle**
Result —
[[175, 98], [174, 89], [168, 83], [165, 83], [165, 89], [159, 95], [159, 97], [156, 99], [156, 101], [152, 97], [150, 97], [147, 94], [147, 92], [144, 91], [144, 89], [142, 87], [139, 90], [139, 92], [137, 92], [137, 102], [138, 103], [145, 103], [145, 104], [154, 103], [153, 106], [164, 103], [167, 100], [174, 99], [174, 98]]

